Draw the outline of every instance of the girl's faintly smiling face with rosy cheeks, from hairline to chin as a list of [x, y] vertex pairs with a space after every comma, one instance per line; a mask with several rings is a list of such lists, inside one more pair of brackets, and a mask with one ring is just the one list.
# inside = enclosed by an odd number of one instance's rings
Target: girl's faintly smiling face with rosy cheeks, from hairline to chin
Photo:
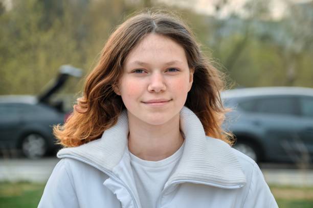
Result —
[[179, 117], [192, 82], [184, 48], [165, 36], [148, 34], [130, 51], [115, 92], [128, 119], [161, 125]]

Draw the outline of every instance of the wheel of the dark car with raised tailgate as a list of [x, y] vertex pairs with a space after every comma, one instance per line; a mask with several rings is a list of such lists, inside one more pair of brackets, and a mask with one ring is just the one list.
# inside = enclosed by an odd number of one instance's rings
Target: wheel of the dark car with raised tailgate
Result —
[[27, 158], [42, 158], [47, 153], [48, 145], [43, 136], [32, 133], [24, 137], [21, 143], [21, 149]]

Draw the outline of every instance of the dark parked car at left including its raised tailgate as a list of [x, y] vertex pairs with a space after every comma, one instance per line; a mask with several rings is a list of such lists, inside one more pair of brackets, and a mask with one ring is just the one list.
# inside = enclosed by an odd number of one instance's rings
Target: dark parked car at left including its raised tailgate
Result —
[[[69, 77], [81, 76], [81, 70], [69, 65], [60, 67], [52, 86], [37, 96], [0, 96], [0, 154], [22, 153], [28, 158], [41, 158], [60, 148], [52, 135], [52, 126], [68, 116], [62, 100], [52, 102]], [[12, 153], [10, 153], [12, 154]]]

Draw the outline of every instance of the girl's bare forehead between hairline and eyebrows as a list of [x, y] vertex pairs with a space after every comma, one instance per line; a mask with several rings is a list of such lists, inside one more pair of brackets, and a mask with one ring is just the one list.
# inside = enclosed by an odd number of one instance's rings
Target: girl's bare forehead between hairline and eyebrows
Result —
[[184, 48], [174, 40], [158, 34], [148, 34], [128, 54], [126, 64], [143, 62], [171, 62], [177, 60], [187, 63]]

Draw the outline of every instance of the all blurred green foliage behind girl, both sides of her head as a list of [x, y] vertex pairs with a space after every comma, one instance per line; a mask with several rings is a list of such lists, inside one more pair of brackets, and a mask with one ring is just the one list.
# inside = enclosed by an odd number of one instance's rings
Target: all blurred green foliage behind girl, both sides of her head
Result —
[[[89, 72], [126, 15], [144, 6], [165, 7], [152, 1], [131, 2], [15, 0], [9, 10], [0, 4], [0, 94], [37, 94], [63, 64]], [[310, 8], [292, 5], [294, 15], [274, 22], [262, 19], [269, 14], [268, 1], [255, 2], [248, 1], [250, 16], [245, 19], [170, 9], [181, 14], [204, 53], [214, 57], [237, 86], [313, 87]], [[220, 1], [218, 9], [222, 11], [226, 3]], [[82, 81], [68, 83], [63, 91], [80, 91]]]

